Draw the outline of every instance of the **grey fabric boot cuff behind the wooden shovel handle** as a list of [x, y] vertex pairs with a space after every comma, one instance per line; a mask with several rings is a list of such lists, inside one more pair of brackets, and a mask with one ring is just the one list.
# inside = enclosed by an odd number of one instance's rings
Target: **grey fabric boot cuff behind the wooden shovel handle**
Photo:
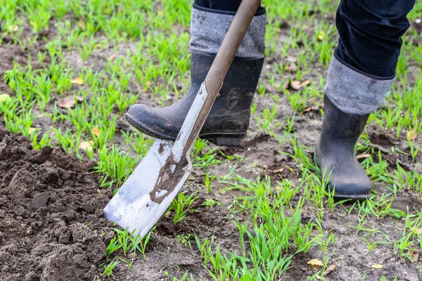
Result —
[[[219, 13], [207, 8], [193, 6], [191, 15], [191, 51], [217, 54], [227, 30], [229, 30], [233, 13]], [[248, 31], [236, 53], [238, 58], [264, 58], [265, 51], [265, 13], [255, 15]]]

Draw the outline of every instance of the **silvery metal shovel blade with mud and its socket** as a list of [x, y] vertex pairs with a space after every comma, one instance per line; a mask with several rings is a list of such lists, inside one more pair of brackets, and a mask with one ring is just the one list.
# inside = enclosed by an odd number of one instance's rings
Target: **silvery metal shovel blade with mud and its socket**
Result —
[[174, 143], [162, 140], [153, 143], [141, 163], [104, 208], [104, 216], [108, 220], [130, 232], [134, 231], [135, 235], [139, 233], [141, 237], [153, 228], [191, 174], [191, 147], [186, 148], [186, 145], [192, 134], [198, 134], [192, 131], [193, 125], [206, 98], [207, 91], [205, 84], [202, 84], [177, 140]]

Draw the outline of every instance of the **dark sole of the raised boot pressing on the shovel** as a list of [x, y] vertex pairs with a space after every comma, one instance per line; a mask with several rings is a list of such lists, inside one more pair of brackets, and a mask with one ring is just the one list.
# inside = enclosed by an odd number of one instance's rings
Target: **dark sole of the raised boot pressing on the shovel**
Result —
[[[149, 128], [145, 124], [138, 123], [135, 121], [134, 117], [129, 114], [124, 115], [127, 119], [127, 122], [134, 126], [135, 129], [145, 133], [148, 136], [152, 136], [153, 138], [159, 138], [161, 140], [166, 141], [176, 141], [176, 137], [167, 136], [162, 133], [158, 133], [153, 129]], [[199, 138], [205, 139], [214, 143], [215, 145], [224, 145], [224, 146], [239, 146], [242, 144], [243, 137], [246, 133], [203, 133], [199, 135]]]

